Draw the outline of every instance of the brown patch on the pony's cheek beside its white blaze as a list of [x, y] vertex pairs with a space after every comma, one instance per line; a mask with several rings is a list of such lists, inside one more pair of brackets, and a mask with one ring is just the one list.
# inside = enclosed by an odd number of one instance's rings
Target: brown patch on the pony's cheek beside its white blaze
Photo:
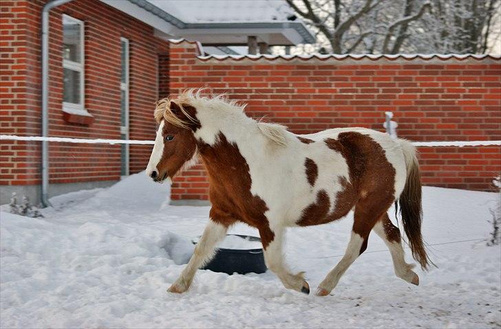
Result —
[[193, 132], [186, 128], [174, 126], [164, 121], [162, 135], [172, 135], [172, 141], [164, 141], [162, 159], [157, 164], [158, 177], [173, 177], [180, 168], [189, 161], [197, 150], [197, 141]]

